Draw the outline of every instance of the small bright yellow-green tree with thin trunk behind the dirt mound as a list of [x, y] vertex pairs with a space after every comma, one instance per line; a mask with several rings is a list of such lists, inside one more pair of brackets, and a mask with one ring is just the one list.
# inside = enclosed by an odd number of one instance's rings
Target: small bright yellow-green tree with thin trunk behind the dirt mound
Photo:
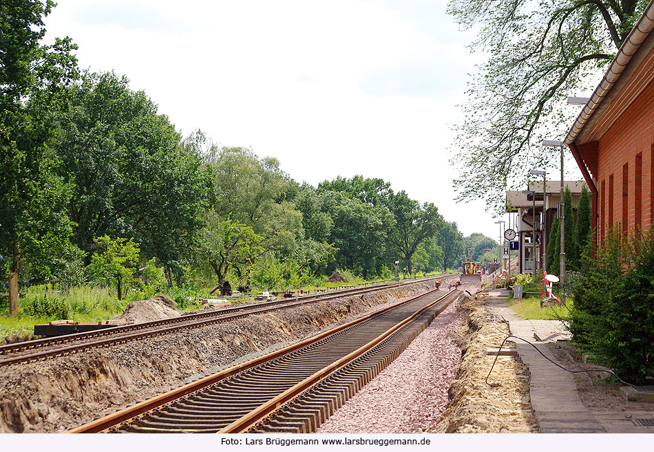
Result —
[[96, 237], [97, 250], [91, 257], [87, 272], [93, 281], [105, 286], [116, 283], [118, 299], [123, 299], [123, 288], [129, 289], [131, 284], [138, 281], [138, 255], [140, 249], [132, 239], [117, 237], [111, 239], [108, 235]]

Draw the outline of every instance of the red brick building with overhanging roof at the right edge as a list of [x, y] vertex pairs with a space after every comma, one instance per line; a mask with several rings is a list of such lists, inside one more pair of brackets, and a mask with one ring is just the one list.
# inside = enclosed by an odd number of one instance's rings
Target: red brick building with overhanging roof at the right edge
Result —
[[570, 129], [571, 149], [593, 196], [593, 228], [654, 223], [654, 0]]

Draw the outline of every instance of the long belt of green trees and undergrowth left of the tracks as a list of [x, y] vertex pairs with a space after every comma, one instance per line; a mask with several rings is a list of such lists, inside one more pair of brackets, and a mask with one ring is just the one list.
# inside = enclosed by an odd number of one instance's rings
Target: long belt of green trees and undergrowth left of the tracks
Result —
[[389, 182], [299, 184], [274, 157], [182, 137], [127, 77], [80, 71], [70, 39], [41, 45], [52, 8], [0, 14], [0, 275], [19, 292], [3, 332], [158, 292], [193, 309], [224, 281], [319, 287], [339, 268], [356, 284], [463, 257], [456, 224]]

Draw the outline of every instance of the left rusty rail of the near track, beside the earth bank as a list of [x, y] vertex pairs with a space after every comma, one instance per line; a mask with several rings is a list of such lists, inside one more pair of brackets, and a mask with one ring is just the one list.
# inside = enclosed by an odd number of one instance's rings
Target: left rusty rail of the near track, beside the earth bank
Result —
[[[262, 364], [269, 363], [273, 360], [277, 360], [277, 358], [280, 358], [284, 355], [291, 354], [291, 352], [295, 352], [304, 347], [319, 343], [319, 341], [323, 341], [329, 336], [333, 336], [335, 334], [343, 334], [344, 332], [346, 332], [346, 330], [352, 327], [357, 327], [358, 325], [361, 325], [366, 321], [370, 321], [372, 317], [379, 316], [380, 314], [398, 308], [401, 305], [411, 303], [416, 299], [425, 297], [425, 295], [428, 295], [432, 292], [436, 292], [436, 290], [437, 289], [430, 290], [423, 294], [416, 295], [415, 297], [412, 297], [408, 300], [401, 301], [399, 303], [394, 303], [393, 305], [383, 308], [382, 310], [373, 312], [371, 314], [366, 314], [365, 316], [362, 316], [359, 319], [349, 321], [344, 325], [339, 325], [326, 332], [322, 332], [321, 334], [317, 334], [316, 336], [307, 338], [304, 341], [300, 341], [299, 343], [288, 345], [287, 347], [272, 352], [271, 354], [266, 354], [264, 356], [254, 358], [240, 365], [230, 367], [229, 369], [224, 369], [223, 371], [218, 372], [216, 374], [212, 374], [210, 376], [200, 378], [199, 380], [196, 380], [187, 385], [183, 385], [176, 389], [172, 389], [171, 391], [167, 391], [165, 394], [161, 394], [160, 396], [156, 396], [155, 398], [144, 400], [143, 402], [138, 402], [136, 405], [132, 405], [131, 407], [126, 407], [124, 409], [116, 411], [115, 413], [104, 416], [103, 418], [99, 418], [93, 420], [92, 422], [88, 422], [87, 424], [83, 424], [80, 427], [76, 427], [70, 430], [69, 433], [97, 433], [100, 431], [110, 431], [112, 427], [115, 428], [115, 426], [117, 425], [127, 424], [131, 421], [138, 420], [139, 418], [142, 418], [144, 416], [148, 416], [151, 413], [156, 413], [156, 411], [158, 411], [160, 407], [166, 405], [175, 405], [176, 402], [180, 400], [184, 400], [184, 398], [186, 398], [187, 396], [201, 394], [203, 389], [207, 387], [211, 387], [211, 385], [215, 385], [215, 383], [219, 383], [223, 380], [226, 380], [227, 378], [235, 376], [236, 374], [240, 374], [241, 372], [244, 372], [248, 369], [252, 369], [253, 367], [257, 367]], [[450, 293], [452, 292], [448, 292], [448, 294]], [[444, 297], [447, 297], [447, 294], [445, 294]], [[443, 299], [443, 297], [439, 298], [439, 300], [441, 299]]]

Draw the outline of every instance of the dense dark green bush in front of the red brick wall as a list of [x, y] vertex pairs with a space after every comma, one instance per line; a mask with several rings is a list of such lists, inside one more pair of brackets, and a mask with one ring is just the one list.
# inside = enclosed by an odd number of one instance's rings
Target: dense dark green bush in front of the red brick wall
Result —
[[573, 341], [622, 378], [642, 384], [654, 369], [654, 233], [613, 231], [587, 253], [573, 288]]

